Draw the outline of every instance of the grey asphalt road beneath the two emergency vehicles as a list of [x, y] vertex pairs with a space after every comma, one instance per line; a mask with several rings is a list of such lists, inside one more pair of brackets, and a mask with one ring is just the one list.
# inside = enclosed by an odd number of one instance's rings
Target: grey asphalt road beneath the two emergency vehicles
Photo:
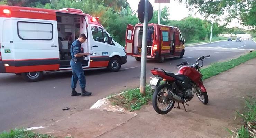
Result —
[[[154, 67], [176, 73], [176, 65], [182, 61], [195, 63], [199, 56], [211, 55], [211, 58], [204, 62], [207, 66], [213, 62], [236, 58], [251, 49], [256, 49], [254, 41], [223, 41], [186, 47], [183, 59], [166, 59], [164, 63], [148, 59], [147, 82], [152, 76], [150, 70]], [[79, 112], [90, 108], [97, 100], [108, 95], [139, 87], [140, 61], [130, 56], [127, 60], [119, 72], [85, 71], [86, 89], [93, 93], [90, 97], [70, 96], [71, 72], [46, 74], [44, 80], [33, 83], [25, 82], [19, 75], [1, 73], [0, 132], [15, 127], [31, 127], [36, 122], [60, 117], [67, 114], [62, 111], [65, 107], [71, 108], [74, 113]], [[77, 91], [80, 91], [79, 85]]]

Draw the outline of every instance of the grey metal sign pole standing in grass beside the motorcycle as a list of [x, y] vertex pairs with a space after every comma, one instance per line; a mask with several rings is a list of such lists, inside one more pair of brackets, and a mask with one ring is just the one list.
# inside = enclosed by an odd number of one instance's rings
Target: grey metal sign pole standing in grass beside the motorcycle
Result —
[[147, 33], [148, 33], [148, 0], [145, 0], [144, 22], [142, 32], [141, 69], [140, 69], [140, 93], [146, 91], [146, 63], [147, 63]]

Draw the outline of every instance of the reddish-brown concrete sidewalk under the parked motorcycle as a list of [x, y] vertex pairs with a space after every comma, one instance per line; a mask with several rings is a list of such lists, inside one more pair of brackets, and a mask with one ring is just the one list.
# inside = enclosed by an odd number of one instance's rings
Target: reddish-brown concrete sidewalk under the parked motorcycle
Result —
[[[157, 114], [151, 103], [135, 112], [84, 110], [58, 120], [33, 124], [46, 128], [36, 132], [77, 138], [223, 138], [226, 128], [241, 125], [235, 111], [243, 111], [243, 97], [256, 96], [256, 59], [243, 63], [204, 81], [209, 103], [195, 96], [186, 106], [188, 112], [173, 108]], [[176, 106], [176, 104], [175, 104]]]

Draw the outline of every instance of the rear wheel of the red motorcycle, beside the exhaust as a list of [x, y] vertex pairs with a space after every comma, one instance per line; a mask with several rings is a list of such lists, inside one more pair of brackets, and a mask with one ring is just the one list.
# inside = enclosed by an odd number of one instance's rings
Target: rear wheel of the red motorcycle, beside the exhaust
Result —
[[164, 96], [164, 91], [171, 91], [172, 86], [168, 84], [159, 85], [153, 93], [152, 106], [158, 114], [167, 114], [174, 106], [175, 101]]

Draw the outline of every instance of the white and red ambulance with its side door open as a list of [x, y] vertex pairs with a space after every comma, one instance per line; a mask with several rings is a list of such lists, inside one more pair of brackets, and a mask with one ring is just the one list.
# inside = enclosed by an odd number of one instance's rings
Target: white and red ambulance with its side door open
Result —
[[83, 68], [118, 71], [127, 62], [125, 48], [98, 20], [80, 9], [0, 6], [0, 73], [35, 82], [44, 71], [71, 70], [70, 47], [82, 33], [83, 52], [96, 53], [84, 57]]

